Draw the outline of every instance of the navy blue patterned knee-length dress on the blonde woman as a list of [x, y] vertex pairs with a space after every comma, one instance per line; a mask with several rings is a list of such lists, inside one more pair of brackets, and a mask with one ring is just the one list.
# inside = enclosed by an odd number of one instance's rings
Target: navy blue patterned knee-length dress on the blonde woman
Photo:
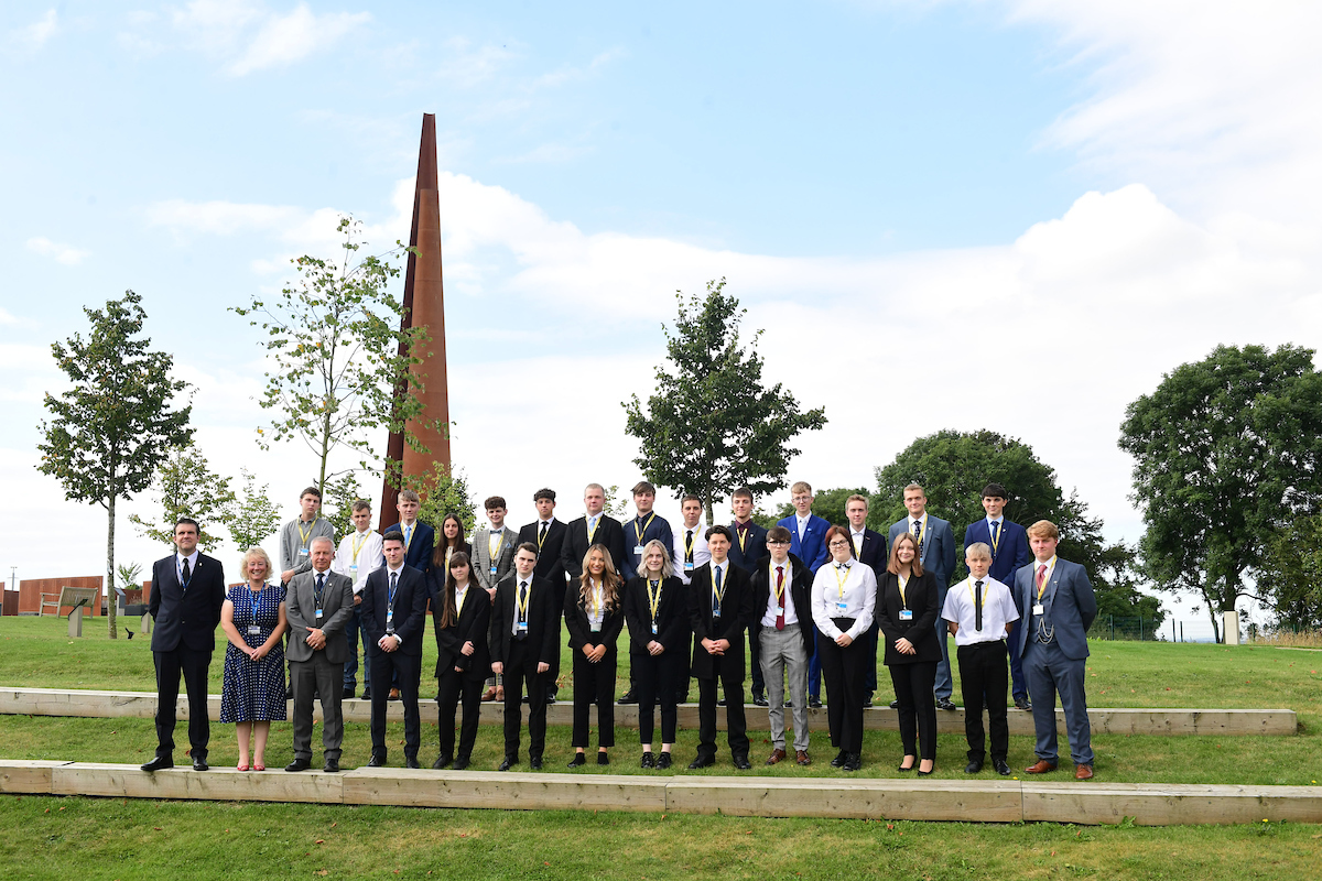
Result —
[[[230, 588], [225, 597], [234, 604], [234, 626], [253, 649], [271, 638], [280, 623], [280, 604], [284, 588], [267, 584], [260, 594], [241, 584]], [[250, 634], [250, 623], [260, 633]], [[284, 641], [282, 639], [262, 660], [253, 660], [234, 643], [225, 646], [225, 682], [221, 686], [222, 722], [284, 721]]]

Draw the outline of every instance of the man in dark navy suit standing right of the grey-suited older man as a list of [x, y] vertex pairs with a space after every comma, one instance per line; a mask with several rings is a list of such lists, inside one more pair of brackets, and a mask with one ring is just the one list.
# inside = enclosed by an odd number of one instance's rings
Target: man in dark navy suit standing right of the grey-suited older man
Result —
[[390, 691], [391, 676], [395, 676], [405, 704], [405, 767], [419, 767], [418, 680], [422, 675], [427, 584], [422, 572], [405, 565], [405, 536], [398, 530], [386, 532], [381, 549], [386, 565], [368, 576], [358, 608], [368, 631], [364, 654], [371, 658], [371, 758], [368, 766], [386, 765], [386, 692]]

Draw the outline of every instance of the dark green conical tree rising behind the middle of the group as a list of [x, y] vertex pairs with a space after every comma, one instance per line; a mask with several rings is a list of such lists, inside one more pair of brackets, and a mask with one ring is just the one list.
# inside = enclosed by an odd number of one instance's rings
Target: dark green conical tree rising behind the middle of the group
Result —
[[821, 431], [825, 409], [798, 411], [795, 396], [776, 383], [765, 388], [761, 355], [739, 342], [747, 309], [724, 293], [726, 280], [709, 281], [705, 297], [676, 292], [674, 333], [662, 325], [669, 365], [656, 369], [656, 391], [646, 411], [637, 395], [624, 403], [625, 431], [642, 454], [633, 460], [653, 483], [693, 493], [707, 520], [713, 506], [735, 487], [764, 494], [785, 485], [789, 441]]

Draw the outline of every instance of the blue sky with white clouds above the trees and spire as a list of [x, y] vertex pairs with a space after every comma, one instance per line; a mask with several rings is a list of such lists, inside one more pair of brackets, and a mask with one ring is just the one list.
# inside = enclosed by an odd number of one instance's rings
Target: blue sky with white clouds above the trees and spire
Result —
[[[724, 277], [768, 380], [826, 408], [791, 481], [875, 487], [988, 428], [1133, 542], [1125, 407], [1220, 343], [1322, 342], [1319, 38], [1307, 1], [7, 3], [0, 572], [104, 569], [103, 510], [36, 444], [50, 343], [126, 289], [213, 469], [295, 515], [316, 460], [256, 446], [230, 308], [333, 255], [341, 213], [407, 239], [424, 112], [453, 458], [514, 523], [639, 479], [620, 402], [676, 291]], [[116, 544], [164, 552], [123, 516]]]

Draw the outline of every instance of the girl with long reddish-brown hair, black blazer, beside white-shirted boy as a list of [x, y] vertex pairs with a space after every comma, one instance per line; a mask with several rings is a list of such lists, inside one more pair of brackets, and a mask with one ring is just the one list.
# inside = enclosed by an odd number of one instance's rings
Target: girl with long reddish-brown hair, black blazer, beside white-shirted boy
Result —
[[941, 645], [936, 638], [936, 618], [941, 614], [936, 577], [923, 571], [917, 542], [902, 532], [891, 544], [891, 559], [876, 588], [876, 622], [886, 643], [886, 666], [899, 704], [900, 742], [904, 745], [902, 771], [912, 771], [915, 721], [923, 759], [919, 777], [936, 765], [936, 664]]

